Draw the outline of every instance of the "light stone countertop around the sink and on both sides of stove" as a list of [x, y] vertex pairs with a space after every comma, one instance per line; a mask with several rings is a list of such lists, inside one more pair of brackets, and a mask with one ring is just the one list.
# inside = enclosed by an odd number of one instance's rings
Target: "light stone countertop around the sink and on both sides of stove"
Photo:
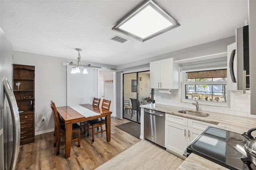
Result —
[[[150, 105], [142, 105], [141, 108], [151, 109], [155, 111], [165, 112], [167, 114], [177, 115], [181, 117], [187, 117], [190, 119], [195, 119], [198, 121], [204, 121], [208, 123], [213, 123], [217, 128], [221, 128], [224, 130], [228, 130], [231, 132], [236, 132], [242, 134], [243, 132], [247, 132], [250, 128], [255, 128], [256, 119], [247, 118], [247, 117], [239, 117], [234, 115], [227, 115], [223, 113], [214, 113], [208, 111], [202, 111], [204, 113], [210, 114], [208, 117], [197, 117], [193, 115], [186, 115], [183, 113], [178, 113], [179, 110], [184, 110], [181, 107], [172, 107], [168, 105], [162, 104], [150, 104]], [[189, 109], [195, 111], [195, 109]], [[195, 164], [196, 162], [196, 164]], [[220, 166], [210, 160], [207, 160], [201, 156], [196, 154], [190, 154], [186, 160], [180, 165], [179, 170], [197, 170], [197, 169], [226, 169], [224, 166]]]

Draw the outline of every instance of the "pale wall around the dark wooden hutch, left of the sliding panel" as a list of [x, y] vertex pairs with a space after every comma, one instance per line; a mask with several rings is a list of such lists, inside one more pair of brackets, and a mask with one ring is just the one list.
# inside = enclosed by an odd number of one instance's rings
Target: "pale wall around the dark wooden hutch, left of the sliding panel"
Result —
[[[54, 130], [50, 101], [56, 106], [66, 105], [66, 59], [14, 51], [14, 64], [35, 66], [35, 135]], [[45, 117], [42, 125], [42, 117]]]

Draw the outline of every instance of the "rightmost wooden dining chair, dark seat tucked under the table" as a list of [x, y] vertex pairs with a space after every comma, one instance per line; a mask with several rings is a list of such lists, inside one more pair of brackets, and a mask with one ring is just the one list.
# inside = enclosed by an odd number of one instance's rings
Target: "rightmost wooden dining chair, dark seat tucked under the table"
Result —
[[[110, 103], [111, 103], [110, 100], [103, 99], [101, 109], [102, 110], [106, 109], [106, 110], [109, 111]], [[87, 136], [89, 136], [89, 131], [90, 131], [89, 126], [90, 125], [92, 126], [92, 142], [94, 142], [94, 135], [95, 134], [102, 133], [102, 132], [106, 131], [106, 130], [103, 130], [103, 128], [102, 128], [102, 125], [106, 124], [105, 119], [106, 118], [98, 118], [98, 119], [93, 119], [93, 120], [87, 121]], [[98, 127], [100, 127], [100, 131], [95, 132], [95, 128], [98, 128]]]

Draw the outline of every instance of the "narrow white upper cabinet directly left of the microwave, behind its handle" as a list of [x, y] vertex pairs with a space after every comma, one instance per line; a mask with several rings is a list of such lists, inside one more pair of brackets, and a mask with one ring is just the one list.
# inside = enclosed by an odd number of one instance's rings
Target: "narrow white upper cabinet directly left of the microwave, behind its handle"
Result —
[[[228, 45], [227, 47], [227, 55], [228, 55], [228, 65], [227, 65], [227, 89], [228, 90], [237, 90], [237, 83], [233, 83], [232, 76], [234, 76], [234, 79], [237, 81], [237, 60], [236, 60], [236, 53], [234, 56], [231, 56], [231, 53], [233, 49], [236, 49], [236, 43], [232, 43]], [[232, 63], [232, 57], [234, 57], [234, 61]], [[232, 68], [233, 67], [233, 70]], [[234, 75], [233, 75], [234, 71]]]

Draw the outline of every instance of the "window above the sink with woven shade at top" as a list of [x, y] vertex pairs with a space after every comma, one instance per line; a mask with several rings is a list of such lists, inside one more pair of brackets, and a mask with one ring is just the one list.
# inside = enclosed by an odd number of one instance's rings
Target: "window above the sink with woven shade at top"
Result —
[[184, 99], [227, 102], [227, 70], [183, 72]]

